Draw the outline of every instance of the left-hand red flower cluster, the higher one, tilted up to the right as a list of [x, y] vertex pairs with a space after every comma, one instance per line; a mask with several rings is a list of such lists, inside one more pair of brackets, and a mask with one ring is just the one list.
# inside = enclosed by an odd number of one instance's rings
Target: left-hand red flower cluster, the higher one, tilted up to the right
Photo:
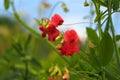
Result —
[[39, 29], [42, 31], [42, 37], [46, 37], [46, 35], [48, 34], [48, 40], [54, 41], [60, 33], [59, 30], [56, 29], [56, 27], [58, 25], [61, 25], [62, 23], [63, 19], [58, 14], [55, 14], [47, 27], [39, 27]]

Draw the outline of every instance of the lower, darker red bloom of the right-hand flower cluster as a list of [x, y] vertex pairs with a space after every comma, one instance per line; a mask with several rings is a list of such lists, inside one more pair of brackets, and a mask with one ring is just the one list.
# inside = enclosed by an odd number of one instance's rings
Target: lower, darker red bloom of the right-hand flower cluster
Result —
[[79, 47], [75, 43], [66, 42], [59, 50], [61, 56], [62, 55], [71, 56], [73, 53], [79, 52]]

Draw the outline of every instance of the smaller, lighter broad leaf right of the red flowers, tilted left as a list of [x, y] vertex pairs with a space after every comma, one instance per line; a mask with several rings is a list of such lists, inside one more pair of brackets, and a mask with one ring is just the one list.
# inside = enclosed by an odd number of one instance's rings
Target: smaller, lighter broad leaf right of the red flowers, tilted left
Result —
[[87, 28], [87, 35], [88, 39], [90, 39], [93, 44], [98, 44], [99, 38], [95, 30], [93, 30], [92, 28]]

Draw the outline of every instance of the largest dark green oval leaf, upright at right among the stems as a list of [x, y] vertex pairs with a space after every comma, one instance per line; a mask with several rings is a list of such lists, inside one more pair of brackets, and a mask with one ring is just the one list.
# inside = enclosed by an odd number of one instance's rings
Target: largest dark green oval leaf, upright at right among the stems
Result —
[[99, 60], [102, 66], [109, 63], [113, 56], [114, 44], [108, 32], [105, 32], [99, 46]]

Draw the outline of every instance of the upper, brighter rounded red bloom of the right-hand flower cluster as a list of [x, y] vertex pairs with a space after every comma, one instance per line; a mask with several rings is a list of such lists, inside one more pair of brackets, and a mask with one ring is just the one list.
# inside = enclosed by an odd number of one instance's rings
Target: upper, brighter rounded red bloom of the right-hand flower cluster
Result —
[[75, 32], [75, 30], [68, 30], [64, 34], [64, 41], [65, 42], [75, 42], [75, 43], [80, 43], [80, 39]]

